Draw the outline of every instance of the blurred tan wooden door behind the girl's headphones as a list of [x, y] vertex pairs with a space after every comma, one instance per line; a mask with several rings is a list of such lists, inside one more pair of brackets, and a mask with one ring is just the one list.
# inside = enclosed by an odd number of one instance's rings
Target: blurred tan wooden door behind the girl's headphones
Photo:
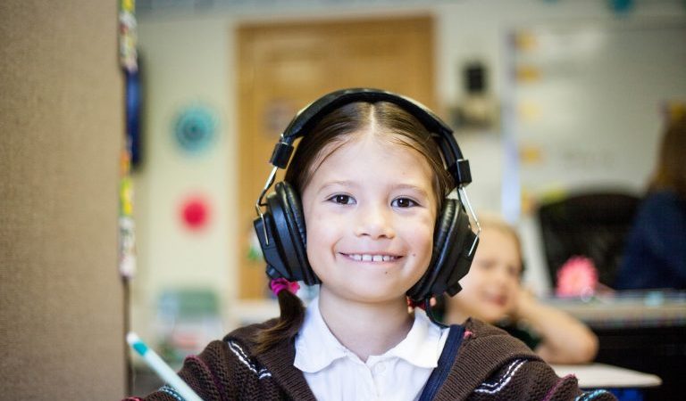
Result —
[[248, 258], [248, 250], [281, 130], [307, 103], [344, 87], [386, 89], [432, 107], [432, 31], [425, 16], [238, 29], [238, 298], [264, 298], [264, 261]]

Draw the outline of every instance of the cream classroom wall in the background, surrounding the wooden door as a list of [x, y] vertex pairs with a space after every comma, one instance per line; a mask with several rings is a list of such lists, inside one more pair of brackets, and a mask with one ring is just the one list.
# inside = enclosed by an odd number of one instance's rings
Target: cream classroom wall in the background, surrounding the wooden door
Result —
[[[288, 3], [288, 4], [287, 4]], [[236, 240], [233, 192], [236, 177], [237, 93], [235, 30], [244, 21], [364, 18], [368, 16], [431, 13], [436, 20], [436, 94], [439, 115], [464, 96], [459, 68], [465, 61], [482, 60], [491, 67], [494, 96], [506, 91], [503, 45], [507, 29], [534, 23], [600, 20], [623, 23], [636, 20], [684, 18], [682, 2], [661, 0], [636, 2], [628, 13], [617, 13], [608, 2], [596, 0], [546, 2], [542, 0], [445, 1], [349, 1], [327, 2], [224, 2], [212, 10], [192, 2], [181, 10], [150, 6], [139, 18], [139, 44], [146, 59], [147, 114], [146, 163], [137, 179], [138, 278], [134, 281], [133, 325], [154, 338], [155, 308], [165, 288], [187, 282], [216, 291], [222, 297], [222, 319], [229, 329], [237, 323], [237, 310], [246, 304], [235, 299], [236, 263], [244, 257]], [[219, 2], [222, 4], [222, 2]], [[158, 7], [159, 9], [155, 9]], [[152, 10], [152, 11], [151, 11]], [[210, 104], [221, 118], [221, 142], [205, 157], [183, 157], [174, 149], [170, 122], [180, 105], [190, 101]], [[474, 184], [468, 190], [473, 204], [482, 210], [502, 209], [499, 193], [505, 179], [503, 137], [494, 127], [483, 135], [458, 136], [471, 159]], [[657, 140], [657, 132], [649, 133]], [[471, 155], [479, 155], [476, 158]], [[266, 160], [265, 155], [265, 160]], [[640, 188], [649, 174], [652, 155], [641, 159], [643, 176], [635, 177]], [[178, 200], [182, 193], [200, 190], [213, 199], [212, 224], [201, 233], [179, 225]], [[535, 265], [532, 264], [532, 265]], [[536, 268], [528, 269], [535, 272]], [[537, 278], [545, 280], [544, 277]], [[270, 311], [267, 311], [270, 313]], [[273, 312], [273, 310], [272, 310]], [[157, 331], [159, 332], [159, 331]]]

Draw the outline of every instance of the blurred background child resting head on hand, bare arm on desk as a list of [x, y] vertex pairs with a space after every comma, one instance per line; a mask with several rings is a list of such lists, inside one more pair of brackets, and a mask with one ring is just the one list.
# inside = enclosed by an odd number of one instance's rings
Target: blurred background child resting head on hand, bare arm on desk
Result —
[[598, 351], [595, 334], [522, 288], [522, 250], [515, 230], [498, 217], [480, 222], [479, 250], [460, 281], [463, 291], [448, 299], [446, 321], [463, 323], [472, 316], [498, 324], [550, 364], [590, 362]]

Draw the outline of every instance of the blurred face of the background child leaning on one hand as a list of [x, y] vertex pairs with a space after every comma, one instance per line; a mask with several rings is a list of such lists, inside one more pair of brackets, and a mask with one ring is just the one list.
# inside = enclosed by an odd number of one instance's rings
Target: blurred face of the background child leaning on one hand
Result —
[[462, 291], [450, 300], [460, 315], [495, 323], [515, 308], [522, 272], [517, 242], [511, 233], [484, 227]]

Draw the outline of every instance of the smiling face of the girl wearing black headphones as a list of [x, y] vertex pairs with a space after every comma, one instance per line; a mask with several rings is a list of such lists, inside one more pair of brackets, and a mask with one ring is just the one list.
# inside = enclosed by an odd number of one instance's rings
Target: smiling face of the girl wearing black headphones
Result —
[[322, 294], [404, 302], [431, 261], [431, 168], [384, 135], [356, 133], [331, 153], [325, 148], [302, 193], [307, 258]]

